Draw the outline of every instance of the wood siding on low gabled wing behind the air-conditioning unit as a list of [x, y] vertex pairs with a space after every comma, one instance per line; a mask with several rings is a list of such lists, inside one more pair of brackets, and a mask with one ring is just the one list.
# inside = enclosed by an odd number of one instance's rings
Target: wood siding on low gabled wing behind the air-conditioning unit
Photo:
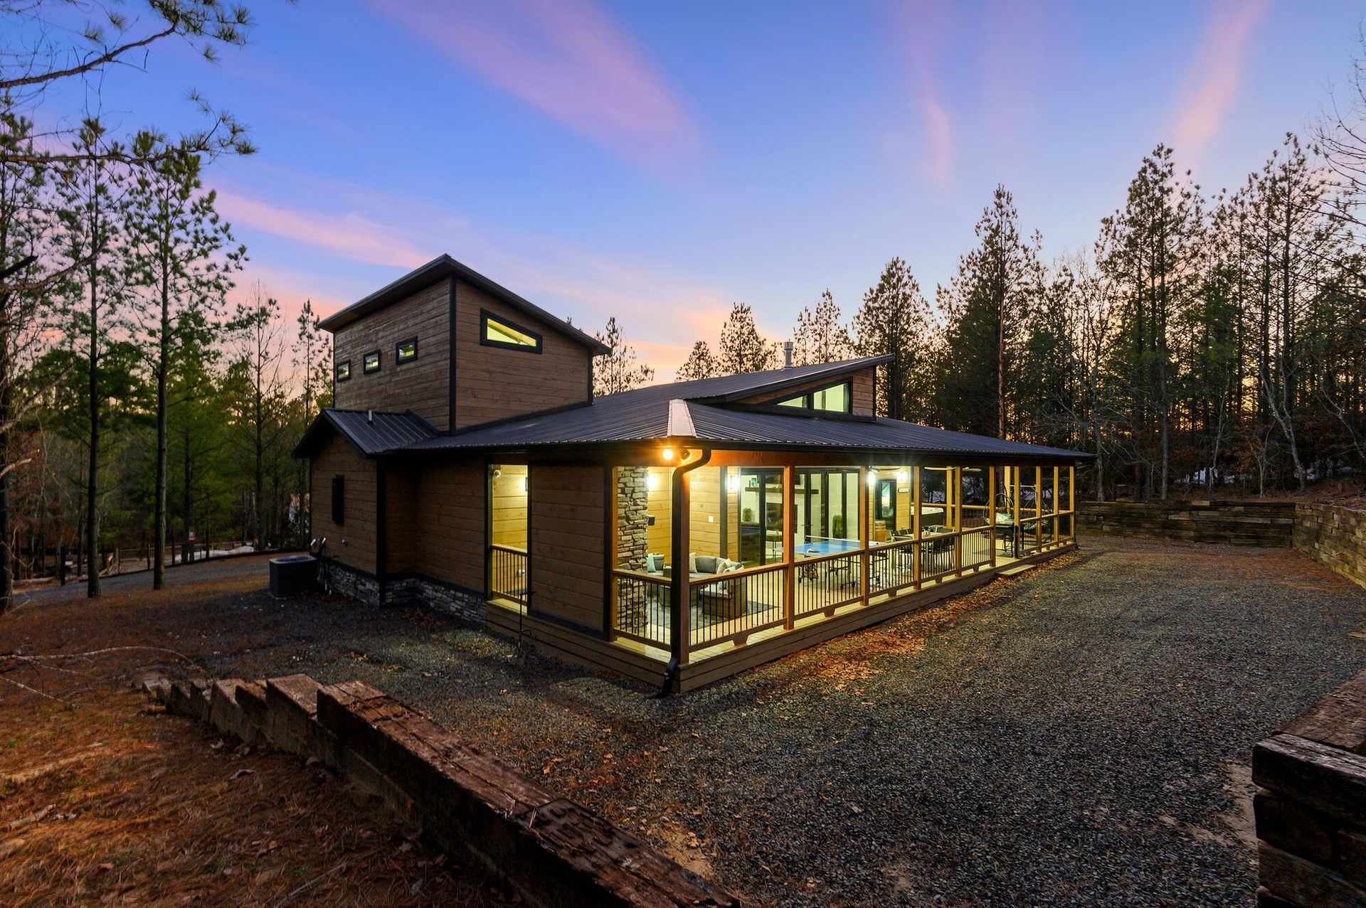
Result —
[[[332, 478], [343, 477], [343, 522], [332, 523]], [[313, 457], [313, 535], [326, 537], [326, 557], [374, 572], [374, 462], [333, 436]]]

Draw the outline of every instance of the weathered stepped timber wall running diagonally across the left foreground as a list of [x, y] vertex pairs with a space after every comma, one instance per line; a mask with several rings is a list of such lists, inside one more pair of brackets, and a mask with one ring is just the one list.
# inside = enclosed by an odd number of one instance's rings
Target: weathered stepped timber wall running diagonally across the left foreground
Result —
[[249, 744], [320, 761], [441, 848], [485, 864], [527, 904], [739, 904], [586, 807], [361, 681], [322, 685], [291, 675], [143, 684], [172, 713]]

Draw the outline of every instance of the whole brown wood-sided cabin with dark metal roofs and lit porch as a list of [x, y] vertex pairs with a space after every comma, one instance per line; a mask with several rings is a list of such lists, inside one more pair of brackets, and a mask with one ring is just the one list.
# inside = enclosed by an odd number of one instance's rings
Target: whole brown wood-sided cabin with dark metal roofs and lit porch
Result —
[[690, 690], [1075, 545], [1086, 455], [876, 416], [888, 358], [593, 396], [607, 348], [443, 255], [326, 318], [333, 590]]

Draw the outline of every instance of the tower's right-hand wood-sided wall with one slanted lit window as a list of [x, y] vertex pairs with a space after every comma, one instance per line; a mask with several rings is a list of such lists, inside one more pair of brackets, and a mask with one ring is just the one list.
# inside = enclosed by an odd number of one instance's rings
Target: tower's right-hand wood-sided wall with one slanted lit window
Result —
[[[591, 351], [463, 281], [455, 299], [458, 429], [589, 400]], [[481, 309], [540, 333], [541, 352], [481, 344]]]

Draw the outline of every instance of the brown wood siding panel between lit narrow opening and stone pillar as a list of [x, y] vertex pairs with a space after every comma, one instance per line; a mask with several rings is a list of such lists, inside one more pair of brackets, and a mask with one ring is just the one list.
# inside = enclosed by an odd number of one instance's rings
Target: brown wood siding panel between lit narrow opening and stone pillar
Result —
[[531, 609], [602, 627], [604, 475], [598, 466], [531, 464]]

